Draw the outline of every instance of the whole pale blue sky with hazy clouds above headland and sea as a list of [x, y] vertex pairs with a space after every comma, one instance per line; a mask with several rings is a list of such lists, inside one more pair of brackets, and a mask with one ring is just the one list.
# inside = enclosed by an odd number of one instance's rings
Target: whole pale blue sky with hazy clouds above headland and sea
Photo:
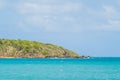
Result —
[[0, 38], [120, 57], [120, 0], [0, 0]]

